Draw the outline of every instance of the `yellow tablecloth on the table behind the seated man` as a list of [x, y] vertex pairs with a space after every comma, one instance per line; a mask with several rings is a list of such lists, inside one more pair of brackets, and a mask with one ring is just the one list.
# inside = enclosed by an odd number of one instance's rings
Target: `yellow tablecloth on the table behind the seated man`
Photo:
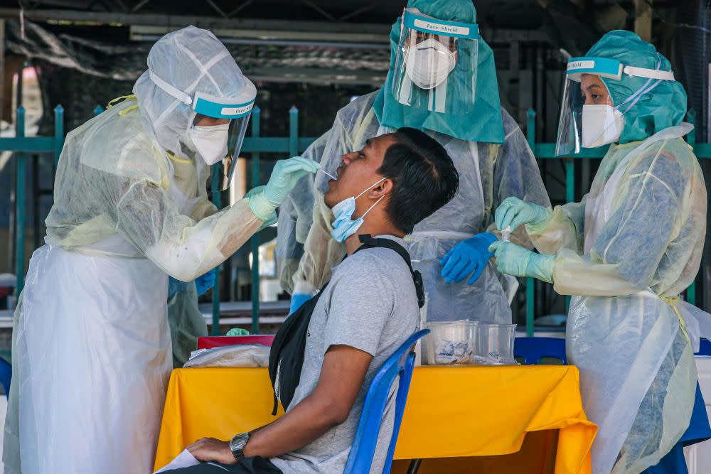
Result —
[[[156, 468], [198, 438], [228, 439], [271, 413], [266, 369], [173, 370]], [[515, 453], [526, 433], [552, 429], [555, 473], [589, 473], [597, 426], [582, 409], [576, 367], [415, 367], [395, 459]]]

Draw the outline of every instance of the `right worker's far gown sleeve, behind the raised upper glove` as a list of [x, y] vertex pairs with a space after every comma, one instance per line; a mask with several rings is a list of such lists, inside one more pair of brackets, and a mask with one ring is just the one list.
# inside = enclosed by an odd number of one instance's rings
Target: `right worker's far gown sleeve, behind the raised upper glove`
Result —
[[550, 218], [543, 225], [521, 227], [525, 227], [528, 237], [542, 254], [557, 254], [561, 249], [570, 249], [582, 254], [585, 203], [587, 195], [579, 203], [567, 203], [553, 208]]

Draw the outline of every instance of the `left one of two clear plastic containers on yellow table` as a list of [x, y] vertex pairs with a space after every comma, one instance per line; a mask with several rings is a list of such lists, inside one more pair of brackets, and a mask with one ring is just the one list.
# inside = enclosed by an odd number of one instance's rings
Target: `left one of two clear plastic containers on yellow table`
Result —
[[471, 365], [476, 356], [476, 321], [426, 323], [422, 365]]

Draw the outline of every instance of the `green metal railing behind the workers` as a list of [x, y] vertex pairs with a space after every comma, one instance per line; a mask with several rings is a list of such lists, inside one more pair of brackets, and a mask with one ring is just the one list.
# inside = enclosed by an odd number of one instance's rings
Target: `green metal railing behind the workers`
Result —
[[[95, 114], [103, 111], [101, 107], [95, 109]], [[25, 136], [25, 109], [17, 109], [16, 137], [0, 138], [0, 151], [14, 151], [16, 160], [16, 222], [17, 232], [15, 236], [15, 259], [17, 275], [17, 294], [24, 286], [24, 239], [25, 239], [25, 212], [24, 201], [26, 195], [26, 154], [27, 153], [53, 153], [55, 165], [59, 161], [60, 153], [64, 144], [64, 109], [57, 106], [55, 114], [55, 134], [54, 136]], [[693, 112], [688, 114], [688, 122], [694, 122]], [[261, 153], [282, 153], [284, 156], [296, 156], [304, 151], [314, 140], [312, 137], [299, 136], [299, 110], [296, 107], [289, 109], [289, 136], [287, 137], [264, 137], [260, 136], [261, 111], [255, 107], [252, 111], [251, 136], [245, 138], [242, 144], [242, 152], [250, 153], [251, 162], [251, 185], [260, 185], [260, 161]], [[560, 159], [565, 166], [565, 199], [567, 202], [575, 200], [575, 161], [587, 158], [602, 158], [606, 148], [590, 150], [581, 153], [575, 158], [559, 158], [555, 156], [555, 144], [535, 142], [535, 111], [528, 111], [527, 127], [528, 144], [535, 157], [538, 159]], [[688, 136], [688, 143], [693, 146], [694, 153], [698, 158], [711, 158], [711, 144], [697, 144], [695, 142], [695, 132]], [[220, 208], [220, 193], [218, 173], [213, 175], [213, 203]], [[259, 331], [260, 313], [260, 273], [259, 273], [259, 247], [260, 236], [256, 234], [250, 239], [250, 252], [252, 254], [252, 333]], [[216, 270], [218, 274], [215, 278], [215, 289], [213, 290], [213, 334], [217, 335], [220, 330], [220, 268]], [[696, 303], [696, 285], [691, 284], [686, 291], [686, 299], [692, 304]], [[566, 303], [569, 298], [566, 299]], [[526, 332], [533, 335], [533, 319], [535, 303], [535, 280], [526, 279]], [[567, 306], [567, 305], [566, 305]]]

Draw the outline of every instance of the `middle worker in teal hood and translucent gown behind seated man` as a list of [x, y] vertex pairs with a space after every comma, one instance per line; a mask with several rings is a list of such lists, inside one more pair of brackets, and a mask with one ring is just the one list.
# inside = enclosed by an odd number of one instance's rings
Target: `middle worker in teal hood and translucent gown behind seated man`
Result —
[[[397, 127], [437, 139], [459, 171], [459, 192], [405, 238], [427, 289], [427, 319], [510, 323], [515, 279], [489, 264], [493, 209], [509, 195], [544, 206], [549, 201], [525, 136], [501, 108], [493, 52], [479, 36], [474, 5], [411, 0], [392, 26], [390, 44], [385, 85], [343, 107], [304, 156], [336, 176], [343, 154]], [[328, 177], [313, 179], [310, 188], [304, 180], [294, 189], [279, 215], [277, 262], [282, 286], [293, 295], [292, 311], [346, 254], [331, 236], [333, 215], [323, 198]], [[531, 245], [524, 230], [511, 238]]]

